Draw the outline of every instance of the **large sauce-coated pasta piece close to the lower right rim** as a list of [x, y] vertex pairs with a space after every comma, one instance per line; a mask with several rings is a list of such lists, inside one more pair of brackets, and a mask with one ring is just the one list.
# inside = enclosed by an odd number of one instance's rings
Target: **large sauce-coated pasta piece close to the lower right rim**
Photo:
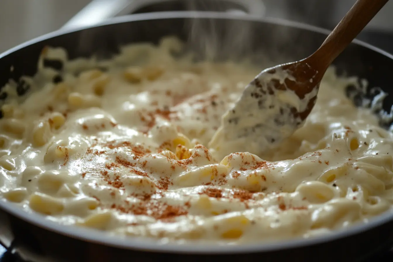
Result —
[[361, 207], [358, 202], [337, 199], [327, 202], [312, 213], [312, 229], [335, 228], [345, 222], [355, 222], [360, 218]]

